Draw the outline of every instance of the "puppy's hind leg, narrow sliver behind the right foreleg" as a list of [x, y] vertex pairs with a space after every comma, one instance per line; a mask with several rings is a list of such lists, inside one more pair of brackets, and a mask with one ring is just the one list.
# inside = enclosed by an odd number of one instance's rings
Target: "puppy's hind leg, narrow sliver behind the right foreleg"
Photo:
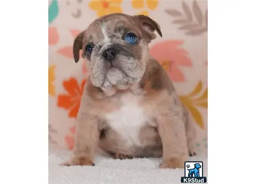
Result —
[[191, 115], [189, 114], [188, 110], [184, 107], [184, 118], [185, 118], [185, 128], [186, 128], [186, 138], [188, 144], [188, 151], [189, 156], [196, 155], [196, 130], [193, 122], [191, 120]]

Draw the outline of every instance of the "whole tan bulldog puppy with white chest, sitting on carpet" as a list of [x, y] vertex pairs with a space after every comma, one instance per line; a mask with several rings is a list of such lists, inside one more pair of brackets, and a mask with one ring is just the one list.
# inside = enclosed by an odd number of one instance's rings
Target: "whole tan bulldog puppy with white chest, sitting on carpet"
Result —
[[97, 148], [114, 158], [163, 157], [160, 168], [183, 168], [195, 154], [195, 129], [166, 71], [149, 55], [160, 26], [144, 15], [110, 14], [74, 40], [89, 78], [77, 115], [73, 157], [93, 166]]

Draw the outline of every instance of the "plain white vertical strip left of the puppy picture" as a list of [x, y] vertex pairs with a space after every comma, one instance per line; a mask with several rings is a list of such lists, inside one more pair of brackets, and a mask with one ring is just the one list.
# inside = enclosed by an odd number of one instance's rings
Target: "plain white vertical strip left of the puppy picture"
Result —
[[1, 3], [0, 183], [48, 183], [47, 9]]

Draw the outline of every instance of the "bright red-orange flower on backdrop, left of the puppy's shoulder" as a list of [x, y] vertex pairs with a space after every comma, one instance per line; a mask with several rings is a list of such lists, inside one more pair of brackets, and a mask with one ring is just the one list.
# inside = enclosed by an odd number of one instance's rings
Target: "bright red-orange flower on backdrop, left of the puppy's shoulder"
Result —
[[68, 110], [70, 118], [76, 118], [77, 116], [85, 83], [86, 80], [83, 80], [79, 86], [77, 80], [73, 77], [63, 82], [63, 87], [68, 94], [58, 95], [57, 106]]

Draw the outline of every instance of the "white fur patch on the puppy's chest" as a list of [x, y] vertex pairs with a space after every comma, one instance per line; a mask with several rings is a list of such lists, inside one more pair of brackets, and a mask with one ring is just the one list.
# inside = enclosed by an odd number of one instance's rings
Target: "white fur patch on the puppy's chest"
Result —
[[105, 118], [108, 125], [120, 134], [127, 144], [139, 146], [139, 131], [148, 119], [138, 100], [133, 94], [124, 94], [120, 99], [120, 109], [105, 114]]

